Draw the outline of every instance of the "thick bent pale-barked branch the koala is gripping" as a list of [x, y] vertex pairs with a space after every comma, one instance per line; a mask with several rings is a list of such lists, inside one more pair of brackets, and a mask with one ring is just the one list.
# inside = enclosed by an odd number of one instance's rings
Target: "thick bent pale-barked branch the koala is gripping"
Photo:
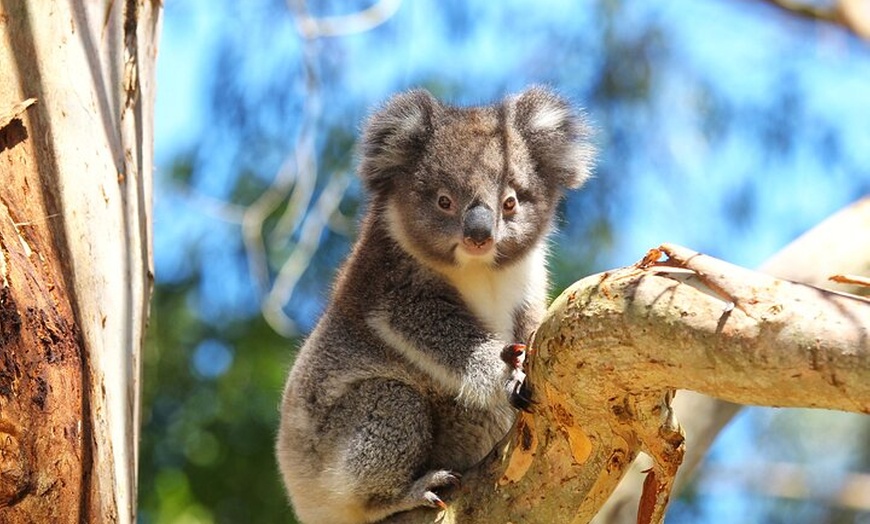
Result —
[[662, 250], [686, 269], [652, 257], [556, 299], [530, 359], [534, 412], [444, 522], [586, 522], [641, 450], [654, 464], [640, 518], [660, 521], [682, 455], [675, 389], [870, 413], [870, 302]]

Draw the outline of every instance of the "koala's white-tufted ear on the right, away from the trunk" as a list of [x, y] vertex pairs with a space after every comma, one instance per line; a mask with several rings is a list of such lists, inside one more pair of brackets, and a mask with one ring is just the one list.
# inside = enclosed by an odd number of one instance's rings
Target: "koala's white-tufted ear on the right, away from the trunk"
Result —
[[563, 187], [577, 188], [589, 178], [595, 148], [591, 127], [582, 113], [543, 87], [532, 87], [513, 98], [513, 123], [529, 148], [542, 176]]

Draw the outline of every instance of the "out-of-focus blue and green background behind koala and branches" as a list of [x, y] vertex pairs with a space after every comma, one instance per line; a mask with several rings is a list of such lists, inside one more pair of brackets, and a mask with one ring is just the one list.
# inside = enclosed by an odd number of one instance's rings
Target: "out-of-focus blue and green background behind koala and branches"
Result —
[[[166, 0], [139, 521], [293, 522], [279, 398], [355, 237], [377, 104], [544, 83], [586, 109], [600, 159], [560, 210], [554, 293], [663, 241], [754, 267], [870, 193], [870, 35], [834, 9]], [[744, 410], [668, 522], [870, 523], [868, 419]]]

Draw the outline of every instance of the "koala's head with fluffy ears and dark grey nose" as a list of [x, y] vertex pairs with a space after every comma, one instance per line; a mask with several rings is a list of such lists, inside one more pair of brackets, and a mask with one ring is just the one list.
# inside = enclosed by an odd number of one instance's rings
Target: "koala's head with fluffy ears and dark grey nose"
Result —
[[370, 118], [360, 173], [371, 212], [423, 263], [505, 265], [539, 244], [564, 189], [588, 177], [588, 135], [582, 116], [540, 87], [470, 108], [416, 90]]

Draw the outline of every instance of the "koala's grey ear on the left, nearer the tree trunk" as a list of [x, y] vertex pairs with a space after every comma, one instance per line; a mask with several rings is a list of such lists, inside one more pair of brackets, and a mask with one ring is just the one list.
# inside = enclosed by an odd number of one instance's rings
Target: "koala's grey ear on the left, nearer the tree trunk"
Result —
[[393, 176], [420, 158], [439, 108], [428, 91], [415, 89], [394, 96], [369, 117], [363, 131], [360, 177], [370, 192], [388, 190]]

